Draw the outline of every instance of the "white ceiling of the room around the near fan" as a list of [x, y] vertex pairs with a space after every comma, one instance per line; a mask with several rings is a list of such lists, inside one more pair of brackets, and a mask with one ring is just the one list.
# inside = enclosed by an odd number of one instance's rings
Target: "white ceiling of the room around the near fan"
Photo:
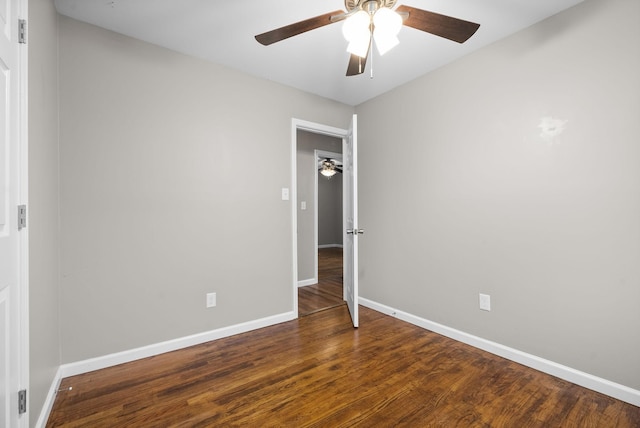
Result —
[[[346, 77], [342, 23], [262, 46], [254, 35], [333, 10], [343, 0], [55, 0], [63, 15], [350, 105], [360, 104], [582, 0], [398, 0], [477, 22], [466, 43], [402, 28], [400, 44]], [[371, 65], [373, 63], [373, 78]]]

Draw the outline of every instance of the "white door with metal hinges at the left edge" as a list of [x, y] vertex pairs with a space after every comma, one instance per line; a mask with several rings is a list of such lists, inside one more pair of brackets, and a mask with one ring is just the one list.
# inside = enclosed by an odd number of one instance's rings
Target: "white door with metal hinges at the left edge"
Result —
[[[20, 385], [18, 0], [0, 0], [0, 426], [17, 427]], [[24, 418], [22, 418], [24, 419]]]

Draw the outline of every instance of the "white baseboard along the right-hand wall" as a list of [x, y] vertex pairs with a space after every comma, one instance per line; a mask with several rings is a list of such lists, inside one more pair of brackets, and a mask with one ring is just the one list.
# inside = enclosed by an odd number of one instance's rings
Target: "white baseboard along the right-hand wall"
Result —
[[640, 391], [360, 297], [362, 306], [401, 319], [576, 385], [640, 406]]

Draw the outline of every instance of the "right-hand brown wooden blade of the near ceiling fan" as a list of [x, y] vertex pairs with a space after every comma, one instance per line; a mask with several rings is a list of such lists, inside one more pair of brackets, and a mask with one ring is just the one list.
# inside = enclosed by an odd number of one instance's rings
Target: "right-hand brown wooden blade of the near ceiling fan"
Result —
[[409, 14], [409, 17], [403, 22], [403, 24], [408, 27], [435, 34], [436, 36], [444, 37], [445, 39], [458, 43], [466, 42], [480, 27], [480, 24], [474, 22], [416, 9], [411, 6], [398, 6], [396, 12], [406, 12]]

